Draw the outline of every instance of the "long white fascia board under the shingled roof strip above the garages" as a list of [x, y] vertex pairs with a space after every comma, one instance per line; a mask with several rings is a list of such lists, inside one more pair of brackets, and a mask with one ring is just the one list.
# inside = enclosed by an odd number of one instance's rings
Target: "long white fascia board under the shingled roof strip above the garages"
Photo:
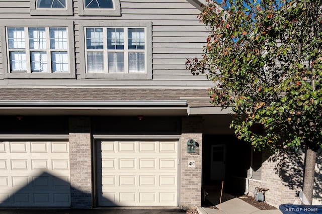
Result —
[[89, 101], [89, 100], [0, 100], [0, 108], [3, 106], [101, 106], [101, 107], [112, 107], [112, 106], [173, 106], [173, 107], [186, 107], [186, 100], [109, 100], [109, 101]]

